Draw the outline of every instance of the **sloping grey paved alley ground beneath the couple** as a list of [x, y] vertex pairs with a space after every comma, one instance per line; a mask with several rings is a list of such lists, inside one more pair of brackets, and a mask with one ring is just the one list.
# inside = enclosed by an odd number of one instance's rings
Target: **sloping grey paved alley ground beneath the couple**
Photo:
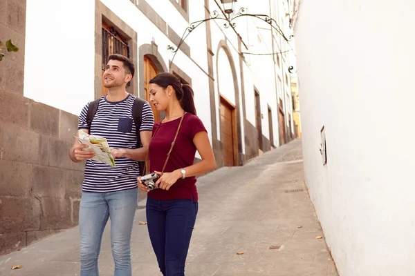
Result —
[[[199, 214], [185, 275], [337, 276], [324, 237], [316, 239], [323, 235], [306, 193], [301, 159], [301, 140], [295, 140], [246, 166], [199, 178]], [[133, 228], [133, 275], [161, 275], [147, 226], [138, 221], [145, 221], [142, 207]], [[66, 230], [0, 257], [0, 275], [80, 275], [79, 246], [78, 228]], [[10, 269], [17, 264], [23, 267]], [[100, 275], [113, 275], [109, 227]]]

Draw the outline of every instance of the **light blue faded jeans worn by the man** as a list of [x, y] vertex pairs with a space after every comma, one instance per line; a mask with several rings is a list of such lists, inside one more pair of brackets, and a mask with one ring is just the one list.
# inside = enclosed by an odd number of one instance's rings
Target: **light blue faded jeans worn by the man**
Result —
[[111, 217], [111, 249], [115, 276], [131, 276], [131, 231], [138, 189], [82, 193], [80, 204], [81, 276], [99, 276], [102, 233]]

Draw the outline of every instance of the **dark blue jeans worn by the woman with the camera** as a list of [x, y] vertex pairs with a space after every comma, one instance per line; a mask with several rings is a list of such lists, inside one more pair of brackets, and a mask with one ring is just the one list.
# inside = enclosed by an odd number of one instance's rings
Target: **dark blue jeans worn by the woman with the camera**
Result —
[[198, 203], [190, 199], [147, 197], [147, 225], [158, 267], [164, 276], [184, 276]]

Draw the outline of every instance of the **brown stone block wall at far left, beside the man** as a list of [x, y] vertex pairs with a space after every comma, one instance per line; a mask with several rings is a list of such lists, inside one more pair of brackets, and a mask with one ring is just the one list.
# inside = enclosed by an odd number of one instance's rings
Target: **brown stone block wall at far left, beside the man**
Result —
[[77, 116], [24, 97], [25, 0], [0, 0], [0, 255], [78, 224], [84, 163], [68, 150]]

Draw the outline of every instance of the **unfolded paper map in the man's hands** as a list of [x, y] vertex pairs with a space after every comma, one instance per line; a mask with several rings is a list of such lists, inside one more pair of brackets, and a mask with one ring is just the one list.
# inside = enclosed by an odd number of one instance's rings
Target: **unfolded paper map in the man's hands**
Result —
[[111, 148], [108, 145], [107, 139], [89, 135], [82, 130], [78, 131], [78, 135], [79, 137], [76, 138], [80, 144], [88, 146], [88, 148], [82, 148], [82, 150], [93, 150], [93, 152], [95, 152], [95, 156], [91, 158], [91, 160], [102, 162], [111, 167], [116, 166], [116, 161], [114, 161], [114, 158], [111, 155]]

